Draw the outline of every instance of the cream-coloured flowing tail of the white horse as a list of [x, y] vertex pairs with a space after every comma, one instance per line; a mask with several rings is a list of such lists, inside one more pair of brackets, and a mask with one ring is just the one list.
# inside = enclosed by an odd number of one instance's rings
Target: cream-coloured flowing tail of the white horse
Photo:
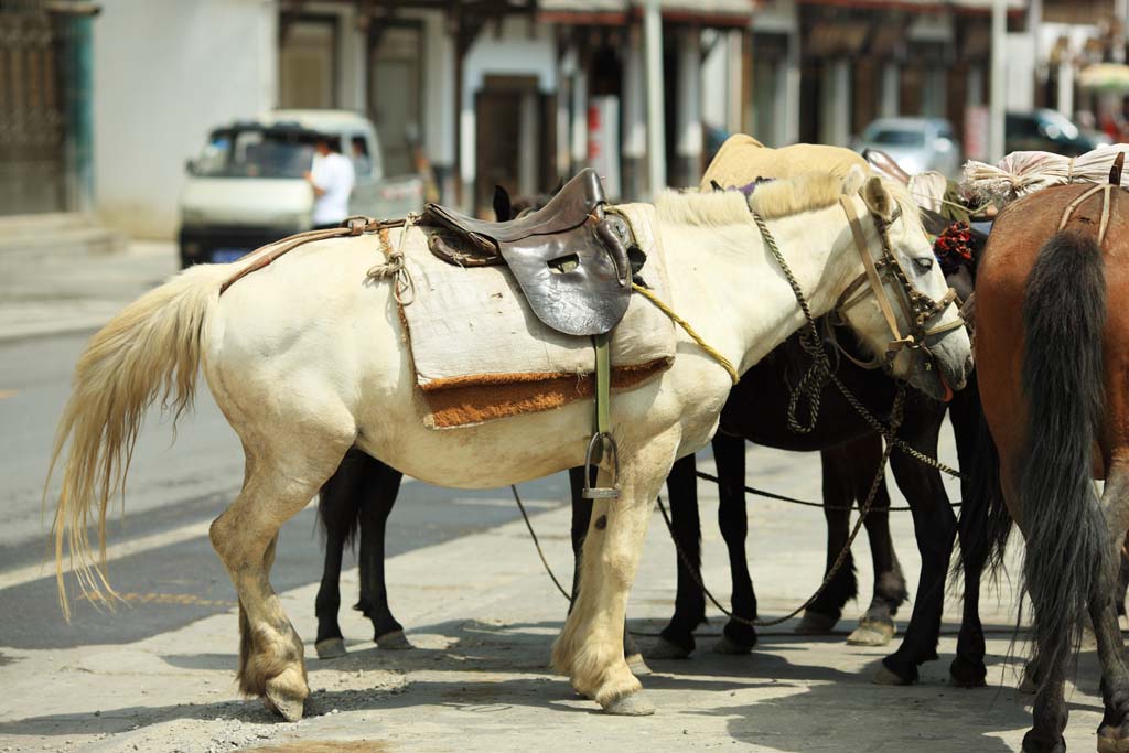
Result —
[[[53, 525], [59, 601], [68, 621], [63, 543], [82, 594], [106, 602], [115, 597], [105, 573], [106, 508], [111, 498], [124, 494], [146, 410], [159, 397], [161, 410], [173, 413], [175, 429], [176, 419], [192, 406], [204, 326], [219, 301], [220, 283], [230, 274], [226, 264], [194, 266], [150, 290], [94, 335], [75, 367], [44, 489], [46, 500], [69, 440]], [[97, 562], [87, 532], [95, 508]]]

